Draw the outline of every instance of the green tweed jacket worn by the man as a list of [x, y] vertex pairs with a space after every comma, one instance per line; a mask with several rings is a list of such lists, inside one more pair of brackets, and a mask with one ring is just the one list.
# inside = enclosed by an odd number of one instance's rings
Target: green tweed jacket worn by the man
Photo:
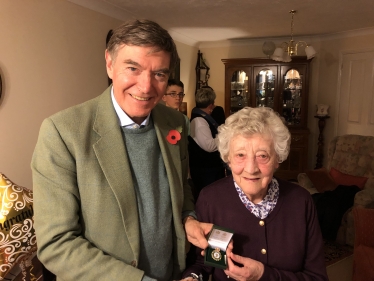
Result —
[[[183, 115], [162, 104], [152, 110], [173, 211], [174, 271], [185, 267], [182, 212], [194, 209], [187, 183]], [[182, 128], [170, 144], [170, 130]], [[136, 195], [110, 87], [42, 123], [33, 154], [34, 226], [41, 262], [58, 280], [141, 280]]]

